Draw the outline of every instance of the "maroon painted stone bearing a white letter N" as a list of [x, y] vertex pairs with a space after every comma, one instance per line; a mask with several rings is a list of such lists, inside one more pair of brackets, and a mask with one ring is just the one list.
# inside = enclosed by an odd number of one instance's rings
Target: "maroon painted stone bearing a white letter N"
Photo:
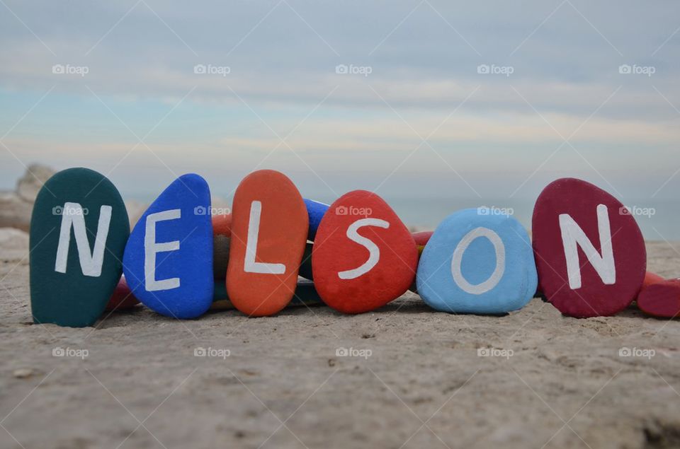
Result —
[[613, 315], [635, 299], [647, 252], [635, 218], [589, 182], [550, 183], [533, 209], [540, 291], [565, 315]]

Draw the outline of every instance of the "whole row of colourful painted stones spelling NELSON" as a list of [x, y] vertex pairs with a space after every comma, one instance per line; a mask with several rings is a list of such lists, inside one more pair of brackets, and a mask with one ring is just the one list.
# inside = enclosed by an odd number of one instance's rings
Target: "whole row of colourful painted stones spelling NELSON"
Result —
[[208, 183], [183, 175], [130, 232], [106, 177], [86, 168], [57, 173], [38, 194], [30, 226], [35, 322], [93, 325], [112, 296], [179, 319], [225, 302], [249, 316], [274, 315], [291, 301], [363, 313], [409, 288], [449, 313], [509, 313], [537, 293], [572, 317], [612, 315], [636, 298], [652, 314], [680, 312], [673, 281], [656, 276], [642, 288], [646, 252], [633, 214], [582, 180], [545, 187], [533, 239], [511, 214], [486, 207], [412, 234], [375, 193], [322, 204], [273, 170], [242, 180], [231, 214], [212, 210]]

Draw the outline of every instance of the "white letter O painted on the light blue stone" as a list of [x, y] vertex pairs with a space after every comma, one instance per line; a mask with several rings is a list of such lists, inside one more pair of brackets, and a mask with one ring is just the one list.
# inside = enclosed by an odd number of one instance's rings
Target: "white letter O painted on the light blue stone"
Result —
[[[479, 237], [486, 237], [494, 245], [494, 250], [496, 251], [496, 268], [489, 279], [482, 282], [482, 284], [472, 285], [460, 271], [460, 264], [463, 262], [463, 254], [465, 250], [470, 246], [472, 240]], [[469, 233], [465, 234], [458, 246], [455, 247], [453, 251], [453, 258], [451, 259], [451, 274], [453, 274], [453, 280], [455, 284], [458, 285], [463, 291], [471, 293], [472, 295], [481, 295], [491, 290], [501, 281], [503, 274], [505, 273], [505, 245], [503, 240], [499, 237], [497, 233], [489, 228], [475, 228]]]

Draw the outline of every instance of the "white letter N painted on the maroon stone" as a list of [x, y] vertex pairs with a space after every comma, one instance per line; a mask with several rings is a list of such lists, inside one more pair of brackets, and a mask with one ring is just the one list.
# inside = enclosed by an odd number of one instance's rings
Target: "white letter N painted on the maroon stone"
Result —
[[600, 246], [602, 255], [599, 255], [586, 233], [577, 225], [574, 218], [569, 214], [560, 214], [560, 231], [562, 231], [562, 245], [565, 248], [567, 260], [567, 276], [572, 290], [581, 288], [581, 266], [579, 265], [579, 251], [581, 247], [588, 261], [591, 263], [600, 279], [606, 285], [616, 283], [616, 266], [614, 265], [614, 252], [611, 247], [611, 230], [609, 228], [609, 213], [607, 206], [597, 206], [597, 229], [600, 234]]

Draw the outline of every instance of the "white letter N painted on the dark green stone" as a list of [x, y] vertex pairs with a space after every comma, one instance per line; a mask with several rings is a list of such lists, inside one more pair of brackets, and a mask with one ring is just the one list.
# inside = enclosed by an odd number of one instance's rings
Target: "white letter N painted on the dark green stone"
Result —
[[66, 273], [71, 243], [71, 227], [73, 227], [78, 257], [80, 259], [80, 268], [83, 274], [91, 277], [101, 276], [101, 266], [104, 263], [104, 249], [106, 249], [106, 239], [108, 238], [108, 226], [111, 223], [111, 211], [111, 206], [101, 206], [97, 235], [94, 239], [94, 250], [91, 252], [90, 243], [87, 240], [85, 214], [82, 206], [78, 203], [64, 203], [55, 272]]

